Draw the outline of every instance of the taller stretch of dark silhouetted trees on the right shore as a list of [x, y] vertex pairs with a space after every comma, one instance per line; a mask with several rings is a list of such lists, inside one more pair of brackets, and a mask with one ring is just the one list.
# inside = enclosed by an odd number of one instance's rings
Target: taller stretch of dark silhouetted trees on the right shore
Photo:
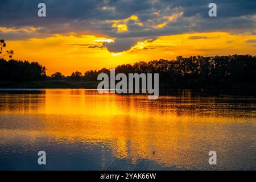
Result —
[[[110, 69], [85, 72], [85, 80], [97, 81], [99, 73]], [[256, 84], [256, 58], [250, 55], [178, 56], [176, 60], [139, 61], [115, 67], [115, 73], [159, 73], [163, 88], [232, 88], [237, 84]]]

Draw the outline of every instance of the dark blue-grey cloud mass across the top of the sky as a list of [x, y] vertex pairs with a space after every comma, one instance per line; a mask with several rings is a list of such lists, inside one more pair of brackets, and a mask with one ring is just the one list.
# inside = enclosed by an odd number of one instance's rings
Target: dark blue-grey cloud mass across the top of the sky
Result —
[[[38, 3], [47, 5], [47, 17], [38, 17]], [[163, 35], [190, 32], [226, 31], [232, 34], [255, 34], [255, 0], [215, 0], [217, 18], [208, 16], [210, 0], [1, 0], [0, 27], [39, 28], [33, 32], [0, 32], [9, 39], [46, 38], [55, 34], [97, 34], [114, 38], [114, 43], [105, 43], [109, 51], [125, 51], [135, 41], [157, 38]], [[171, 15], [183, 12], [182, 16], [168, 20]], [[118, 32], [112, 20], [138, 16], [138, 24], [126, 22], [127, 32]], [[162, 28], [155, 28], [166, 23]], [[155, 40], [155, 39], [154, 39]]]

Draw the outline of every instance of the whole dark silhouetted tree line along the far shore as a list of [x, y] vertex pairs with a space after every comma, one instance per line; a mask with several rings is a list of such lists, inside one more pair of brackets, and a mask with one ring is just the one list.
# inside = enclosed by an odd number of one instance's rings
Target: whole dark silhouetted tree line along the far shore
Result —
[[[97, 81], [100, 73], [110, 75], [110, 69], [73, 72], [64, 76], [56, 72], [46, 76], [46, 68], [37, 62], [0, 60], [0, 81]], [[115, 74], [159, 73], [162, 88], [230, 88], [238, 84], [256, 85], [256, 56], [178, 56], [175, 60], [139, 61], [133, 65], [115, 67]]]

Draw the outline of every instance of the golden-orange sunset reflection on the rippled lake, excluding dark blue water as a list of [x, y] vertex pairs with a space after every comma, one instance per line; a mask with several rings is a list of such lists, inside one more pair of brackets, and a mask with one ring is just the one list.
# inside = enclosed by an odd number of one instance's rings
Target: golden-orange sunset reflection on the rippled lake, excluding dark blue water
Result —
[[150, 159], [164, 166], [207, 168], [208, 152], [216, 150], [220, 167], [242, 168], [246, 163], [234, 160], [255, 151], [255, 98], [250, 97], [202, 97], [185, 90], [150, 101], [97, 90], [46, 89], [2, 93], [0, 114], [5, 143], [24, 136], [31, 143], [40, 136], [71, 144], [104, 143], [114, 158], [133, 164]]

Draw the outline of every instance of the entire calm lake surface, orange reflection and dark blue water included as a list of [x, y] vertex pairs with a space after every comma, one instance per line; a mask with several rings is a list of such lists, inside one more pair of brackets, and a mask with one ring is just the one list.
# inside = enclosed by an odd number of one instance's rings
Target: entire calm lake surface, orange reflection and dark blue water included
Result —
[[0, 90], [0, 170], [255, 170], [255, 134], [256, 97]]

